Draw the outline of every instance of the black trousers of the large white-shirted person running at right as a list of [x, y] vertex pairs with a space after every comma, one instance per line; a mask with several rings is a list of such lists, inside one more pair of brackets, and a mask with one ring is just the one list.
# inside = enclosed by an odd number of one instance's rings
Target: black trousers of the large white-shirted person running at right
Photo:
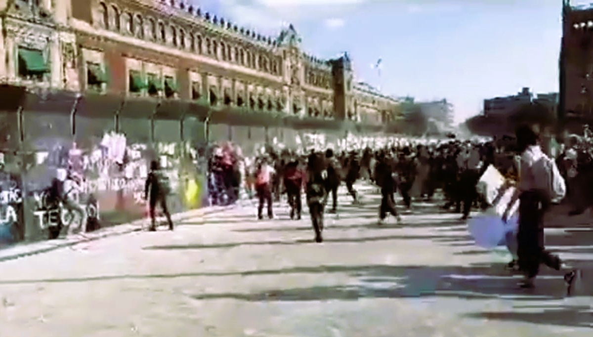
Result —
[[549, 205], [543, 200], [536, 192], [523, 192], [519, 203], [517, 256], [519, 269], [528, 278], [539, 274], [542, 263], [556, 270], [562, 264], [558, 256], [545, 248], [543, 217]]

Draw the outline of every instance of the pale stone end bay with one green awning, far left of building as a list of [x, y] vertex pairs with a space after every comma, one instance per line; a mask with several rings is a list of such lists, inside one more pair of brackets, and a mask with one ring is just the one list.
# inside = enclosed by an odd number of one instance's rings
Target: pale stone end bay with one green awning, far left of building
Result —
[[0, 78], [33, 88], [78, 90], [76, 38], [65, 0], [0, 2]]

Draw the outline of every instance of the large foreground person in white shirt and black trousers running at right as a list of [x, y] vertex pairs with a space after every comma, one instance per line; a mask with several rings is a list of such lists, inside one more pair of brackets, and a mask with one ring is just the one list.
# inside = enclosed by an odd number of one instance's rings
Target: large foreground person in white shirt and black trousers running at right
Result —
[[[538, 136], [528, 126], [517, 129], [517, 145], [521, 152], [517, 192], [502, 215], [506, 222], [510, 208], [519, 200], [519, 227], [517, 232], [517, 257], [519, 271], [524, 274], [521, 288], [533, 288], [540, 272], [540, 264], [557, 271], [565, 269], [565, 281], [570, 294], [577, 272], [562, 263], [544, 246], [544, 214], [553, 198], [566, 192], [564, 182], [553, 161], [541, 150]], [[553, 166], [552, 166], [553, 165]]]

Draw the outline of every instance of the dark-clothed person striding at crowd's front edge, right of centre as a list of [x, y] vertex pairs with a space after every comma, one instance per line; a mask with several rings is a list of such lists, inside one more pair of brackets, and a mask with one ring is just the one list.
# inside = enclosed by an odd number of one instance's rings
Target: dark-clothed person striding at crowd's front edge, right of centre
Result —
[[377, 166], [375, 167], [375, 181], [381, 187], [381, 205], [379, 206], [379, 223], [381, 224], [387, 213], [390, 213], [397, 218], [397, 222], [401, 221], [397, 214], [396, 203], [393, 199], [393, 192], [397, 188], [391, 158], [385, 154], [381, 154], [378, 158]]

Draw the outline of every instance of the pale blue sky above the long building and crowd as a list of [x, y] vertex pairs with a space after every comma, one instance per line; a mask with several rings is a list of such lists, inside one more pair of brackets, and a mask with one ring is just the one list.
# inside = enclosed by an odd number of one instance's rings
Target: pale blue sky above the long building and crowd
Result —
[[[357, 78], [386, 94], [447, 98], [455, 122], [482, 100], [558, 89], [561, 0], [194, 0], [275, 36], [292, 23], [305, 51], [347, 51]], [[578, 4], [578, 2], [575, 2]], [[381, 76], [371, 64], [382, 59]]]

